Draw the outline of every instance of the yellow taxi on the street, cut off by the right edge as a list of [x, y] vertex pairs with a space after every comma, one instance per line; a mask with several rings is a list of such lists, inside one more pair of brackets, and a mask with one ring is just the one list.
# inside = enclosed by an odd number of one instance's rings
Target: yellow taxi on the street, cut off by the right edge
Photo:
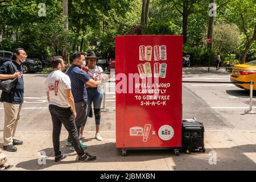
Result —
[[[253, 90], [256, 90], [256, 60], [245, 64], [236, 64], [230, 74], [230, 81], [254, 81]], [[250, 84], [234, 84], [239, 88], [250, 90]]]

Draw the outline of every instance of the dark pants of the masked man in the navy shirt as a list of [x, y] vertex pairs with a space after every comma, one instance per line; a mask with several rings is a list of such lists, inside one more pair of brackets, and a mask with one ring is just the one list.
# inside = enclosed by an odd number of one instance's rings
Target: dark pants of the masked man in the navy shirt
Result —
[[[86, 118], [86, 114], [87, 114], [87, 102], [86, 101], [82, 101], [82, 102], [75, 102], [75, 107], [76, 107], [76, 119], [75, 119], [75, 123], [76, 123], [76, 129], [77, 132], [80, 134], [80, 129], [82, 126], [82, 123], [84, 123], [85, 118]], [[68, 142], [71, 142], [71, 135], [68, 135]]]

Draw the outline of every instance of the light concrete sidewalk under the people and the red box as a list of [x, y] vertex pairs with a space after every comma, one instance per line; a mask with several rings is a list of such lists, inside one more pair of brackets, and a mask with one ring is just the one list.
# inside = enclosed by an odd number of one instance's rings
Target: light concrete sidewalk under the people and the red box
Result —
[[[8, 163], [14, 164], [11, 170], [139, 170], [139, 171], [173, 171], [173, 170], [255, 170], [256, 169], [256, 131], [205, 131], [206, 152], [191, 152], [176, 156], [170, 150], [136, 150], [127, 151], [127, 156], [115, 148], [115, 134], [102, 131], [104, 140], [93, 139], [94, 132], [84, 133], [84, 143], [88, 145], [89, 154], [96, 155], [97, 160], [90, 163], [77, 162], [75, 152], [65, 146], [67, 132], [61, 133], [61, 150], [69, 154], [67, 159], [56, 163], [52, 148], [51, 132], [18, 132], [17, 138], [24, 144], [18, 152], [5, 152]], [[0, 132], [2, 136], [2, 132]], [[88, 139], [89, 138], [89, 139]], [[0, 138], [2, 140], [2, 138]], [[46, 164], [38, 164], [39, 151], [46, 152]], [[216, 164], [214, 159], [216, 155]], [[75, 165], [74, 165], [75, 164]]]

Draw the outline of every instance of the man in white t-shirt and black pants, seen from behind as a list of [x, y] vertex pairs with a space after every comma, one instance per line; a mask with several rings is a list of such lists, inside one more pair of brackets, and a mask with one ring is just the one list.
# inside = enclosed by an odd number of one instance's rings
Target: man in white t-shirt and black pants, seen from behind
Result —
[[60, 151], [60, 131], [62, 124], [71, 136], [73, 146], [79, 155], [79, 162], [95, 160], [96, 156], [91, 156], [84, 152], [80, 144], [75, 124], [76, 109], [71, 92], [71, 81], [70, 78], [62, 72], [65, 68], [62, 57], [53, 57], [51, 65], [54, 71], [46, 78], [46, 93], [49, 102], [49, 112], [52, 117], [52, 141], [55, 152], [55, 162], [59, 162], [68, 156]]

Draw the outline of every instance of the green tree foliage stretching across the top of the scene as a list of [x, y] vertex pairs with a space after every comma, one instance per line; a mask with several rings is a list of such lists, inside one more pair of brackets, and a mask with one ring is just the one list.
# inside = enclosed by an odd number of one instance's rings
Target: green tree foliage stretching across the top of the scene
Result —
[[[69, 0], [68, 17], [64, 17], [61, 0], [0, 1], [0, 49], [13, 51], [23, 47], [29, 57], [61, 55], [67, 51], [93, 50], [97, 56], [114, 57], [117, 35], [180, 35], [183, 30], [183, 0], [151, 0], [148, 24], [141, 28], [142, 0]], [[193, 3], [192, 3], [193, 2]], [[46, 3], [46, 17], [38, 16], [38, 4]], [[209, 50], [205, 30], [209, 22], [209, 0], [189, 1], [187, 44], [184, 54], [191, 55], [192, 64], [208, 65]], [[223, 57], [230, 52], [239, 60], [241, 52], [253, 35], [256, 22], [256, 0], [216, 0], [211, 63], [217, 51]], [[243, 17], [243, 21], [242, 18]], [[64, 30], [65, 18], [69, 33]], [[97, 44], [100, 43], [100, 44]], [[249, 56], [256, 53], [256, 43]], [[224, 60], [226, 63], [226, 60]], [[228, 62], [227, 62], [228, 63]]]

